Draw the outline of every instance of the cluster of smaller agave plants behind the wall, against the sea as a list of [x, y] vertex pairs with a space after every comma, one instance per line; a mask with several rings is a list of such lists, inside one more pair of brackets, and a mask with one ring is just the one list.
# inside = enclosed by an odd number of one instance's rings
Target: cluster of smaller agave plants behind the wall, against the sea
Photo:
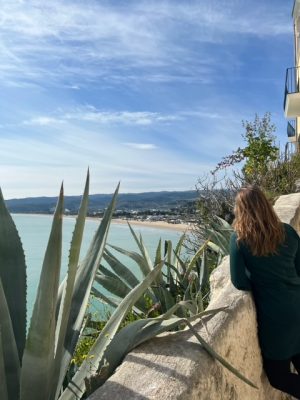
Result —
[[[114, 245], [110, 247], [114, 251], [134, 260], [140, 269], [142, 277], [162, 258], [164, 258], [165, 264], [164, 269], [153, 282], [151, 288], [147, 290], [146, 297], [136, 303], [137, 313], [144, 316], [153, 315], [153, 312], [163, 314], [179, 301], [186, 300], [192, 302], [194, 313], [202, 311], [201, 290], [208, 282], [206, 257], [204, 255], [206, 244], [200, 246], [193, 257], [188, 259], [182, 256], [185, 235], [182, 235], [174, 250], [172, 249], [171, 241], [166, 241], [164, 249], [162, 249], [163, 246], [160, 240], [157, 245], [155, 260], [152, 262], [142, 236], [138, 237], [130, 224], [128, 225], [139, 248], [139, 253], [127, 251]], [[105, 249], [104, 260], [108, 263], [110, 269], [101, 264], [96, 275], [96, 282], [109, 291], [113, 297], [107, 297], [104, 295], [103, 290], [98, 288], [93, 289], [93, 294], [106, 303], [116, 306], [120, 299], [136, 286], [139, 280], [108, 248]], [[182, 309], [179, 308], [177, 313], [182, 316]], [[186, 309], [186, 316], [188, 315], [189, 311]]]

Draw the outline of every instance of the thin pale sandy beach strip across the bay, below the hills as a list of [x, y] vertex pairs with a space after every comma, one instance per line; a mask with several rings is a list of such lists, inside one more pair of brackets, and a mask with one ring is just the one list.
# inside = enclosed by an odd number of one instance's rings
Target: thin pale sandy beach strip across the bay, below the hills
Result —
[[[53, 217], [53, 214], [39, 214], [39, 213], [12, 213], [13, 215], [30, 215], [30, 216], [44, 216], [44, 217]], [[64, 215], [64, 218], [76, 218], [77, 215]], [[86, 217], [86, 220], [89, 221], [99, 221], [99, 217]], [[138, 221], [134, 219], [121, 219], [121, 218], [113, 218], [111, 220], [112, 224], [116, 225], [127, 225], [127, 222], [132, 226], [140, 226], [145, 228], [155, 228], [155, 229], [166, 229], [177, 232], [188, 232], [192, 224], [171, 224], [165, 221]]]

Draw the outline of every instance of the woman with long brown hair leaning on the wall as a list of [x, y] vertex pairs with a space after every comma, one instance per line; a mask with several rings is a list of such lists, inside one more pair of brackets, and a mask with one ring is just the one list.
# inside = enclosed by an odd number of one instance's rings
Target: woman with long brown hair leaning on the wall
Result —
[[236, 197], [230, 242], [233, 285], [251, 290], [257, 311], [263, 367], [270, 384], [300, 399], [300, 240], [282, 223], [263, 192]]

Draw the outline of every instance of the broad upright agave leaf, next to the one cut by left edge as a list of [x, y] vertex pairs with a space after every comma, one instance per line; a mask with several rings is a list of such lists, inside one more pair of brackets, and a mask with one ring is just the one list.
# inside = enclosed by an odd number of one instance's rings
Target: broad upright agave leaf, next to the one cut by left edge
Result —
[[45, 253], [23, 355], [21, 399], [48, 399], [53, 374], [56, 301], [61, 266], [63, 187]]

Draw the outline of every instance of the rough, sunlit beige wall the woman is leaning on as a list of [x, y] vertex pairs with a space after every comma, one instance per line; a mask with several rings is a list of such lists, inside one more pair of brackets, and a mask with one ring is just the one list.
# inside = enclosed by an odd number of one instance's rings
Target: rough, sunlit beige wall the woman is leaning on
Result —
[[[275, 209], [299, 232], [300, 194], [281, 196]], [[188, 331], [164, 334], [128, 354], [115, 374], [89, 400], [283, 400], [262, 371], [251, 295], [236, 290], [229, 258], [211, 275], [209, 309], [226, 312], [203, 318], [197, 331], [213, 348], [254, 382], [254, 389], [213, 360]]]

